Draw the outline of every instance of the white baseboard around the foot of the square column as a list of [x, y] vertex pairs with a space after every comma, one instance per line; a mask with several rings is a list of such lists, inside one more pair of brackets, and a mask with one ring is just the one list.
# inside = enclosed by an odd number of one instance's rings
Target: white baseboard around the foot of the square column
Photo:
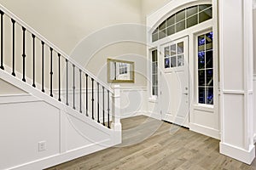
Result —
[[225, 156], [230, 156], [238, 161], [250, 165], [255, 157], [255, 146], [252, 145], [249, 150], [243, 150], [231, 144], [219, 143], [219, 152]]

